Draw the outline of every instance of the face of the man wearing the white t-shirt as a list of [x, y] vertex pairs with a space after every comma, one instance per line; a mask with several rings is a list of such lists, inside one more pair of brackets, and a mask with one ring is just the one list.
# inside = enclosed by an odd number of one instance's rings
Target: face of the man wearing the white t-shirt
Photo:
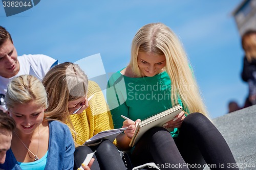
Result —
[[11, 78], [18, 74], [17, 51], [11, 40], [7, 39], [0, 46], [0, 76]]

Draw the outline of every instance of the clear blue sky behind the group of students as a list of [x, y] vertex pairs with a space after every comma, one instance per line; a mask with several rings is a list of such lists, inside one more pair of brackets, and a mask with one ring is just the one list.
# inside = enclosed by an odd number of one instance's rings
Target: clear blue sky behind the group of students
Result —
[[[181, 39], [211, 117], [227, 113], [227, 104], [243, 104], [243, 51], [231, 12], [242, 0], [44, 0], [6, 17], [0, 25], [12, 35], [18, 55], [45, 54], [76, 62], [100, 53], [106, 72], [130, 61], [131, 42], [140, 27], [163, 22]], [[89, 75], [90, 76], [90, 75]]]

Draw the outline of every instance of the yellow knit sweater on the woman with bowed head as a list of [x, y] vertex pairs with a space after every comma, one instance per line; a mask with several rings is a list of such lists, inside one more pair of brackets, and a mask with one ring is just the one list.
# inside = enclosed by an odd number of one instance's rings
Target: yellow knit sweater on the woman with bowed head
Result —
[[88, 98], [93, 94], [86, 110], [81, 114], [70, 115], [77, 133], [75, 142], [80, 145], [101, 131], [114, 129], [112, 116], [100, 87], [89, 81]]

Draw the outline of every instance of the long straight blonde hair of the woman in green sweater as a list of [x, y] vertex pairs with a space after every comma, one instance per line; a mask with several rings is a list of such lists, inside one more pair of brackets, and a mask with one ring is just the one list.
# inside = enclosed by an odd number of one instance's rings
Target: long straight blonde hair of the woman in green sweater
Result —
[[165, 56], [165, 69], [172, 82], [172, 105], [178, 104], [180, 97], [189, 113], [200, 112], [209, 117], [186, 53], [172, 30], [163, 23], [150, 23], [136, 33], [132, 41], [129, 66], [136, 76], [141, 77], [142, 73], [138, 67], [139, 52]]

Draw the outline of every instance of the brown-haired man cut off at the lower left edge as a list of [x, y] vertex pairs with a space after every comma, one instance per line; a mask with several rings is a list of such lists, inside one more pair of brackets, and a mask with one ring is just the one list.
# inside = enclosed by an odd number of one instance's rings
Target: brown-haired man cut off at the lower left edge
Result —
[[12, 117], [0, 110], [0, 163], [5, 163], [6, 152], [11, 148], [12, 131], [15, 122]]

